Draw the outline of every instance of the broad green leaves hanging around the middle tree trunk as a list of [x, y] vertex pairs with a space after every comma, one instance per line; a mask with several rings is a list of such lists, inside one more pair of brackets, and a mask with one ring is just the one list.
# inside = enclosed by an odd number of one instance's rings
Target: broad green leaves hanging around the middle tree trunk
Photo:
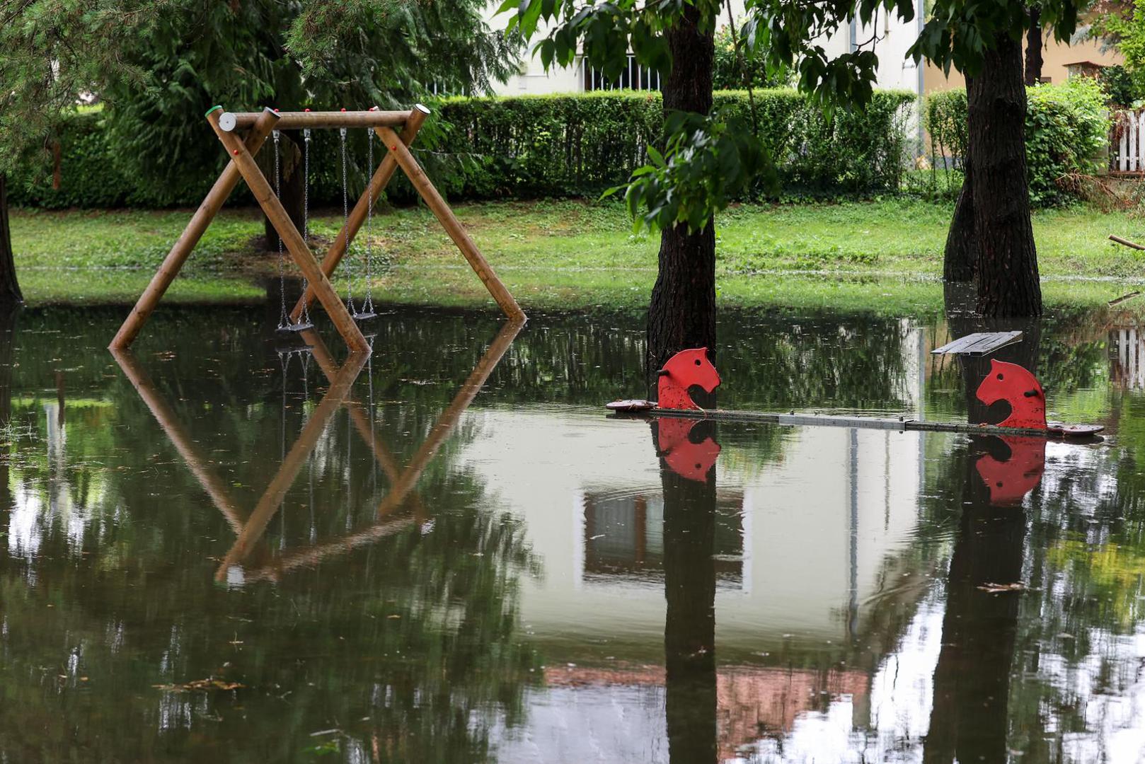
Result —
[[[531, 40], [542, 22], [548, 30], [535, 46], [546, 69], [571, 65], [583, 55], [587, 65], [599, 69], [606, 79], [615, 79], [629, 65], [629, 52], [646, 69], [668, 74], [672, 66], [689, 66], [689, 61], [673, 61], [666, 32], [678, 26], [694, 27], [701, 36], [714, 36], [724, 10], [722, 0], [616, 0], [585, 2], [575, 0], [504, 0], [499, 13], [511, 13], [508, 31]], [[828, 0], [793, 3], [783, 0], [747, 0], [747, 21], [733, 54], [764, 64], [769, 77], [798, 73], [799, 89], [820, 107], [834, 110], [862, 107], [874, 96], [878, 57], [872, 38], [842, 55], [828, 55], [819, 41], [844, 27], [852, 19], [867, 24], [879, 10], [914, 16], [911, 0]], [[726, 52], [726, 46], [725, 46]], [[739, 62], [737, 62], [739, 63]], [[740, 189], [766, 179], [752, 178], [760, 168], [777, 163], [765, 160], [767, 147], [740, 124], [724, 121], [728, 112], [716, 116], [668, 116], [663, 163], [642, 165], [633, 175], [627, 192], [629, 207], [640, 207], [643, 223], [662, 221], [706, 221], [727, 205]], [[752, 115], [752, 126], [763, 119]], [[785, 127], [785, 124], [784, 124]], [[756, 145], [749, 145], [757, 142]], [[802, 147], [799, 147], [802, 148]], [[655, 158], [656, 155], [649, 153]], [[641, 157], [642, 158], [642, 157]], [[898, 160], [898, 158], [895, 159]], [[696, 163], [692, 170], [685, 165]], [[898, 171], [897, 171], [898, 172]], [[706, 173], [706, 174], [705, 174]], [[728, 175], [731, 173], [731, 175]], [[677, 187], [676, 183], [684, 186]]]

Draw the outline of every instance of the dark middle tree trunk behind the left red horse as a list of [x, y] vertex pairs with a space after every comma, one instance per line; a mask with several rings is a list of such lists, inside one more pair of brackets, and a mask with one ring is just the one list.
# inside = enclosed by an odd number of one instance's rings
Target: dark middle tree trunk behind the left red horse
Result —
[[[668, 31], [672, 71], [664, 80], [664, 111], [706, 115], [712, 108], [712, 36], [700, 32], [700, 11], [687, 6]], [[648, 306], [648, 384], [672, 354], [706, 347], [716, 351], [714, 222], [689, 234], [687, 226], [665, 228], [660, 237], [660, 273]]]

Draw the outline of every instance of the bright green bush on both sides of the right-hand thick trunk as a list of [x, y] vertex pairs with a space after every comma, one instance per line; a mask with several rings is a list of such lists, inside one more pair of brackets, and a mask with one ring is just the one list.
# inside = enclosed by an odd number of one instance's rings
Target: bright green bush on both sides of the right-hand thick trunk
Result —
[[[1075, 198], [1068, 179], [1091, 174], [1101, 166], [1100, 155], [1110, 135], [1106, 93], [1098, 80], [1074, 77], [1061, 84], [1026, 88], [1026, 165], [1029, 200], [1051, 206]], [[933, 167], [962, 167], [966, 155], [966, 92], [945, 90], [926, 97], [924, 125], [931, 139]], [[950, 183], [947, 176], [947, 184]], [[937, 181], [935, 181], [937, 182]]]

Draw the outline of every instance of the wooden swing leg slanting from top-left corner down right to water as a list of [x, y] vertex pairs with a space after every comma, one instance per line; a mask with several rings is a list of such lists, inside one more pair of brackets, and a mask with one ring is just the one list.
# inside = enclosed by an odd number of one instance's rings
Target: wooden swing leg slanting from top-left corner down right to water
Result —
[[[251, 191], [254, 194], [254, 198], [262, 207], [262, 211], [267, 213], [267, 218], [275, 227], [275, 230], [278, 231], [278, 237], [286, 245], [291, 258], [302, 270], [302, 275], [309, 279], [310, 286], [318, 297], [318, 301], [326, 309], [326, 315], [334, 322], [338, 333], [346, 340], [350, 351], [368, 353], [370, 344], [365, 341], [362, 331], [354, 323], [354, 318], [350, 317], [349, 310], [346, 309], [337, 292], [334, 292], [330, 279], [322, 273], [322, 268], [318, 266], [318, 261], [314, 259], [310, 247], [302, 239], [302, 235], [298, 233], [298, 228], [294, 227], [282, 203], [278, 202], [278, 197], [275, 196], [270, 183], [262, 175], [262, 171], [254, 164], [254, 158], [251, 157], [246, 147], [243, 145], [243, 142], [234, 133], [228, 133], [219, 127], [218, 111], [208, 113], [207, 121], [211, 123], [211, 127], [214, 128], [219, 140], [227, 148], [230, 160], [238, 166], [238, 172], [243, 174], [243, 180], [251, 187]], [[389, 128], [387, 127], [386, 129]]]

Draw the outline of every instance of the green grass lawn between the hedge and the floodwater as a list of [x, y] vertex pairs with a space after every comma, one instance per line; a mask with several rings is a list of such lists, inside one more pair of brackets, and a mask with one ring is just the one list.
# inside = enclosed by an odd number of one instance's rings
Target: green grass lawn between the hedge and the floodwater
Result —
[[[881, 309], [941, 306], [949, 204], [886, 199], [741, 205], [717, 227], [725, 305]], [[526, 308], [642, 308], [656, 277], [658, 236], [633, 235], [618, 204], [503, 202], [457, 207], [477, 246]], [[190, 211], [13, 211], [13, 245], [30, 302], [132, 302]], [[319, 251], [339, 213], [311, 221]], [[1145, 238], [1145, 222], [1088, 207], [1037, 212], [1034, 235], [1047, 300], [1100, 302], [1145, 283], [1145, 254], [1108, 234]], [[169, 298], [258, 299], [275, 257], [259, 251], [261, 220], [228, 210], [211, 226]], [[361, 258], [362, 241], [355, 246]], [[380, 211], [373, 237], [376, 297], [388, 302], [474, 306], [481, 283], [425, 208]], [[356, 266], [361, 260], [356, 261]], [[294, 268], [287, 263], [291, 271]], [[335, 278], [335, 284], [340, 284]]]

